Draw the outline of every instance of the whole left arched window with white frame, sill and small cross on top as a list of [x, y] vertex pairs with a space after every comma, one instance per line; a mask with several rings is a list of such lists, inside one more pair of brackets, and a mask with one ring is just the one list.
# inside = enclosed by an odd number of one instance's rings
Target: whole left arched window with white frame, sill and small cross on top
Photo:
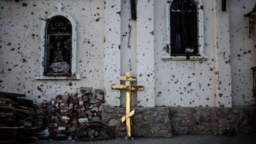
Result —
[[42, 20], [40, 67], [36, 80], [81, 79], [76, 73], [76, 22], [58, 3], [58, 11]]

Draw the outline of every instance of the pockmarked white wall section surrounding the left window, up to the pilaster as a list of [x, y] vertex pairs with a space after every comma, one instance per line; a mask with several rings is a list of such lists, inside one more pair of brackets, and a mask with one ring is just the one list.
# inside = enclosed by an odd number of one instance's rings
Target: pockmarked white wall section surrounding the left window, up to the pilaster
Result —
[[[81, 80], [35, 80], [41, 23], [57, 11], [58, 3], [76, 21], [76, 71]], [[39, 103], [81, 86], [103, 89], [104, 1], [0, 1], [0, 7], [0, 91], [25, 93]]]

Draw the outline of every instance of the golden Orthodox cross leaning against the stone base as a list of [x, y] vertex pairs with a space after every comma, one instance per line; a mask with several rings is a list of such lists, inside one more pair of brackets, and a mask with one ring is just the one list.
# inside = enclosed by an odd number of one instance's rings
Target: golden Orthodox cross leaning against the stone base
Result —
[[122, 117], [122, 123], [126, 120], [127, 138], [131, 138], [131, 116], [135, 114], [135, 109], [131, 111], [132, 90], [143, 90], [144, 86], [130, 85], [130, 81], [136, 81], [135, 77], [130, 77], [130, 71], [126, 71], [126, 77], [120, 77], [120, 81], [125, 81], [125, 85], [112, 84], [112, 89], [126, 90], [126, 115]]

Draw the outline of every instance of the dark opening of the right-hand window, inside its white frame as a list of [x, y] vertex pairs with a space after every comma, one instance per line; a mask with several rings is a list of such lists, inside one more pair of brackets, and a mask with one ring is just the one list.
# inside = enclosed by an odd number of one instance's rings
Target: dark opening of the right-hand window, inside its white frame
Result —
[[190, 0], [170, 6], [170, 48], [172, 56], [198, 54], [197, 7]]

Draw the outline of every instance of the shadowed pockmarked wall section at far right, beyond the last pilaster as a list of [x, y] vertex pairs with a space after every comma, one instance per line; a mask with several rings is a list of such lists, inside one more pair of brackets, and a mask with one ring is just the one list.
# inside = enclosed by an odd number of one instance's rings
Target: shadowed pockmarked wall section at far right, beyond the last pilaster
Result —
[[232, 77], [232, 105], [253, 106], [252, 70], [255, 64], [255, 29], [249, 38], [248, 17], [255, 1], [229, 1], [230, 64]]

